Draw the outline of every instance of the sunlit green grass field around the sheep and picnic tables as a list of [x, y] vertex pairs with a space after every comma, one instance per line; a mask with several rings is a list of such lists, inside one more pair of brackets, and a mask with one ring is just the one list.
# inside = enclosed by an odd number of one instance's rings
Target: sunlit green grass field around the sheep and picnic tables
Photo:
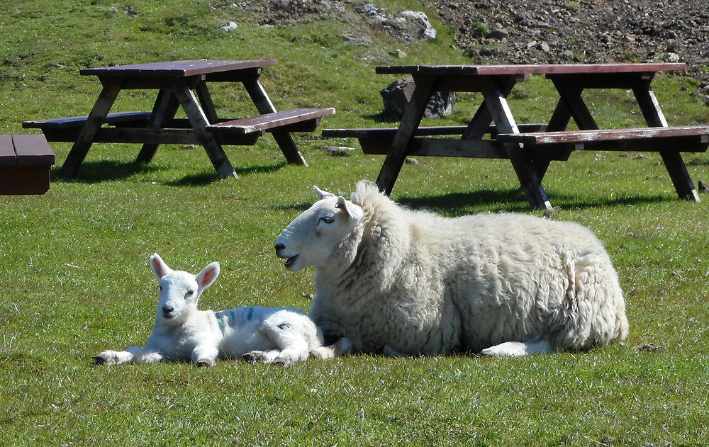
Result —
[[[341, 21], [259, 28], [230, 4], [4, 3], [0, 132], [86, 114], [99, 86], [79, 76], [83, 67], [272, 57], [279, 65], [262, 80], [277, 108], [334, 106], [323, 125], [337, 128], [381, 121], [378, 91], [393, 79], [375, 75], [376, 64], [465, 62], [440, 23], [433, 43], [376, 35], [377, 45], [358, 47], [341, 38], [350, 31]], [[237, 30], [218, 30], [230, 20]], [[408, 57], [395, 57], [397, 48]], [[695, 81], [662, 76], [655, 86], [671, 124], [709, 118]], [[225, 115], [252, 113], [227, 86], [213, 96]], [[464, 123], [475, 99], [460, 97], [447, 122]], [[152, 92], [130, 92], [116, 110], [151, 100]], [[534, 78], [510, 105], [520, 121], [537, 122], [555, 101]], [[623, 92], [588, 101], [601, 125], [641, 123]], [[228, 147], [238, 180], [218, 180], [201, 147], [164, 146], [151, 164], [135, 165], [136, 145], [96, 145], [78, 179], [55, 170], [44, 196], [0, 197], [1, 446], [706, 445], [709, 196], [678, 200], [656, 154], [573, 154], [545, 179], [552, 218], [591, 227], [608, 247], [631, 324], [624, 344], [521, 359], [350, 356], [285, 369], [91, 366], [99, 351], [149, 334], [157, 283], [147, 259], [156, 251], [195, 272], [220, 261], [202, 308], [308, 308], [313, 271], [286, 271], [274, 239], [313, 202], [313, 185], [348, 195], [376, 178], [383, 159], [333, 157], [322, 148], [357, 143], [318, 133], [297, 141], [308, 168], [284, 164], [269, 136]], [[61, 166], [69, 145], [52, 148]], [[708, 154], [685, 159], [695, 182], [709, 181]], [[445, 215], [532, 213], [509, 162], [419, 161], [403, 167], [392, 195], [401, 203]], [[662, 349], [638, 348], [649, 344]]]

